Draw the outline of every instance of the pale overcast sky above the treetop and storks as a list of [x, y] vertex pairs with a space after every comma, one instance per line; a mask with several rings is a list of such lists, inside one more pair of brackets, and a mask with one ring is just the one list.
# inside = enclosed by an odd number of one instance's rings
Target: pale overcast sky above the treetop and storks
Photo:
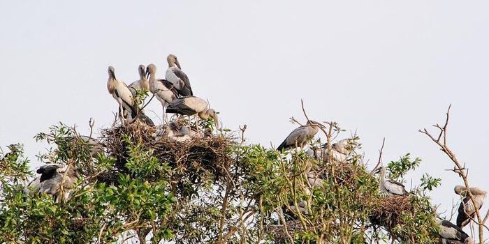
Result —
[[[489, 190], [488, 8], [488, 1], [0, 0], [0, 146], [23, 143], [37, 167], [34, 155], [46, 146], [34, 141], [37, 132], [63, 121], [86, 133], [91, 117], [97, 128], [113, 121], [109, 65], [129, 84], [140, 63], [155, 63], [163, 77], [171, 53], [227, 128], [248, 125], [248, 142], [280, 144], [296, 127], [290, 116], [304, 121], [302, 98], [312, 119], [337, 121], [344, 137], [360, 135], [370, 167], [384, 137], [384, 162], [421, 157], [409, 178], [443, 178], [432, 197], [449, 213], [462, 180], [444, 171], [453, 164], [417, 130], [443, 123], [452, 104], [448, 144], [467, 163], [470, 183]], [[160, 103], [147, 114], [159, 123]]]

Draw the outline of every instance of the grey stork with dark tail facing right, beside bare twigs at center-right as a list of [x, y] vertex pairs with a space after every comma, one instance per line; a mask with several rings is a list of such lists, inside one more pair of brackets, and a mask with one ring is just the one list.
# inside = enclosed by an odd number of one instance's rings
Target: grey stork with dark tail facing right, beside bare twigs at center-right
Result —
[[282, 144], [277, 147], [277, 151], [284, 151], [288, 148], [299, 146], [303, 148], [305, 144], [319, 132], [319, 128], [326, 128], [319, 122], [307, 121], [306, 125], [301, 125], [291, 132]]

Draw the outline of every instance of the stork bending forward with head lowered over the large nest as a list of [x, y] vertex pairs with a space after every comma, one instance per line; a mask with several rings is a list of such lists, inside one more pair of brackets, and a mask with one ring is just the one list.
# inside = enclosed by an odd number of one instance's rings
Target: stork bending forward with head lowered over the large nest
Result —
[[202, 98], [196, 96], [187, 96], [184, 98], [177, 98], [170, 102], [170, 105], [166, 107], [166, 112], [170, 114], [183, 114], [183, 115], [196, 115], [200, 119], [207, 120], [213, 119], [214, 126], [219, 128], [219, 118], [217, 112], [214, 109], [209, 109], [207, 102]]

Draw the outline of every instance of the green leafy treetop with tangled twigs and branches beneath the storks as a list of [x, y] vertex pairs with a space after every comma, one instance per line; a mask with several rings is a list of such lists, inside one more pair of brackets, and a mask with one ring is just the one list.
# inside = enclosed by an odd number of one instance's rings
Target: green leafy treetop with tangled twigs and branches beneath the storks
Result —
[[[224, 135], [159, 142], [175, 150], [166, 151], [147, 139], [151, 132], [131, 125], [116, 129], [105, 132], [112, 134], [97, 153], [62, 123], [36, 136], [56, 144], [42, 160], [82, 174], [66, 201], [24, 190], [33, 174], [22, 147], [3, 158], [0, 243], [112, 243], [126, 234], [152, 243], [351, 244], [388, 237], [433, 243], [436, 224], [424, 191], [439, 179], [425, 175], [416, 194], [383, 197], [377, 177], [355, 152], [358, 143], [345, 162], [336, 162], [237, 144]], [[341, 130], [335, 125], [333, 131]], [[120, 145], [107, 145], [115, 139]], [[388, 169], [400, 179], [420, 163], [408, 153]]]

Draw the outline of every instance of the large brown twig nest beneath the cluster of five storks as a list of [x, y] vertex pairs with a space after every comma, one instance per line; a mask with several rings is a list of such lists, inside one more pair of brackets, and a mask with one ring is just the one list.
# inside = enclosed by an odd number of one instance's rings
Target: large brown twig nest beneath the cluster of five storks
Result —
[[[145, 151], [152, 150], [159, 162], [173, 169], [170, 181], [175, 184], [196, 184], [203, 176], [212, 177], [214, 181], [228, 176], [227, 169], [233, 162], [228, 148], [235, 144], [232, 138], [210, 135], [177, 142], [168, 137], [158, 137], [158, 134], [161, 133], [157, 132], [157, 128], [137, 122], [103, 130], [102, 143], [109, 155], [115, 158], [115, 168], [100, 174], [98, 179], [116, 183], [117, 172], [127, 172], [125, 165], [129, 158], [129, 144], [140, 145]], [[180, 188], [187, 187], [189, 185], [180, 185]]]

